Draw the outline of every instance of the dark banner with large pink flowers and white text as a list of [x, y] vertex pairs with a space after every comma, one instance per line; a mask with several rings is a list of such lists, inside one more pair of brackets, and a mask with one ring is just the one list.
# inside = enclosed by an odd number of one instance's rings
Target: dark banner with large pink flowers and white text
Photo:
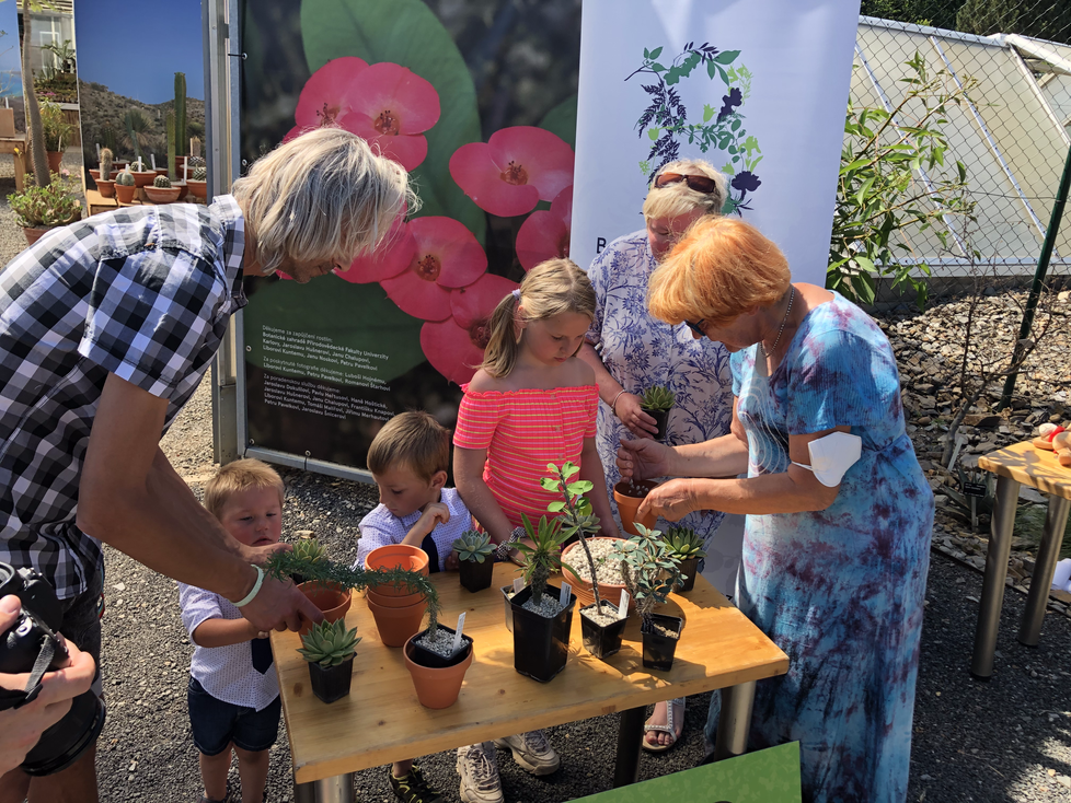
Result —
[[252, 445], [364, 467], [398, 411], [452, 424], [494, 307], [568, 255], [580, 1], [256, 0], [242, 18], [243, 158], [339, 126], [421, 197], [345, 271], [246, 279]]

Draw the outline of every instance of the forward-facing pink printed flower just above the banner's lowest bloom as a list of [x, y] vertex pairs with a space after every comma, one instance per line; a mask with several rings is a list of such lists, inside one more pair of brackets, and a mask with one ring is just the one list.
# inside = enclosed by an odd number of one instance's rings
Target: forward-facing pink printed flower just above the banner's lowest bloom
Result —
[[413, 317], [450, 317], [450, 291], [487, 270], [487, 255], [463, 223], [452, 218], [417, 218], [406, 224], [416, 249], [398, 276], [380, 281], [391, 301]]

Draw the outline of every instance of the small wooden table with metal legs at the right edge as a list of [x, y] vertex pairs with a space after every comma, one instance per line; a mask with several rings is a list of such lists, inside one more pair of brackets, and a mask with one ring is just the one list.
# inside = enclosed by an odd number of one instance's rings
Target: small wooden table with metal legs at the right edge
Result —
[[1037, 647], [1052, 574], [1060, 557], [1063, 528], [1067, 526], [1068, 511], [1071, 510], [1071, 469], [1061, 466], [1051, 452], [1035, 449], [1029, 442], [1016, 443], [981, 456], [978, 458], [978, 467], [997, 475], [997, 501], [986, 551], [986, 577], [978, 606], [975, 653], [970, 662], [970, 674], [979, 680], [988, 680], [993, 674], [997, 629], [1004, 602], [1004, 580], [1012, 549], [1020, 486], [1028, 485], [1049, 496], [1041, 546], [1038, 548], [1034, 579], [1030, 581], [1026, 610], [1018, 631], [1022, 643]]

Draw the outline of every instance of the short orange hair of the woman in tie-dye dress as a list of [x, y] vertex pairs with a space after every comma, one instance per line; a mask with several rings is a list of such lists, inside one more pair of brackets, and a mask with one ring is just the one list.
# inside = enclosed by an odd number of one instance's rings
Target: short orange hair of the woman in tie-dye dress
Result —
[[739, 218], [696, 221], [650, 275], [647, 307], [666, 323], [727, 324], [788, 291], [781, 249]]

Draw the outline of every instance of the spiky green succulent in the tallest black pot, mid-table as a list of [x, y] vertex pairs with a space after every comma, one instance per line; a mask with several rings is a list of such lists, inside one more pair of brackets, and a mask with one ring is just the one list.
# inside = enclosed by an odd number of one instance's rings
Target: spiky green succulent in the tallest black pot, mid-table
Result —
[[528, 583], [510, 601], [514, 614], [514, 668], [540, 683], [553, 679], [568, 660], [569, 629], [576, 595], [562, 604], [562, 590], [546, 581], [562, 568], [560, 549], [569, 533], [557, 519], [540, 516], [532, 526], [523, 513], [525, 532], [531, 544], [518, 543], [525, 581]]

